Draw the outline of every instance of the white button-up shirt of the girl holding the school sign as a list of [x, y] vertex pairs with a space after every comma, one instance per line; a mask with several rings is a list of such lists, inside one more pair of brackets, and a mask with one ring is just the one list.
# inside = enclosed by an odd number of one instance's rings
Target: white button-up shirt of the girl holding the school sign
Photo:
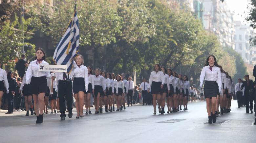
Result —
[[51, 74], [50, 71], [39, 71], [40, 66], [42, 65], [49, 65], [46, 61], [42, 60], [42, 62], [39, 64], [36, 64], [37, 60], [34, 60], [32, 62], [30, 62], [29, 67], [27, 69], [27, 73], [26, 73], [26, 83], [29, 82], [29, 80], [31, 79], [32, 76], [34, 77], [42, 77], [42, 76], [46, 76], [46, 78], [51, 78]]

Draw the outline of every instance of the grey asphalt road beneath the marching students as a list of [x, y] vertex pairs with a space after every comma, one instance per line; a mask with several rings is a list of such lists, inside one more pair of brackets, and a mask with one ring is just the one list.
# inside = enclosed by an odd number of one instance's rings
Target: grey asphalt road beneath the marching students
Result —
[[238, 109], [236, 101], [231, 110], [215, 124], [208, 124], [205, 102], [189, 103], [187, 111], [164, 115], [153, 115], [153, 106], [136, 105], [75, 119], [73, 110], [72, 119], [61, 121], [59, 114], [48, 114], [43, 115], [42, 124], [35, 124], [35, 116], [25, 117], [25, 112], [15, 116], [1, 113], [0, 142], [255, 143], [254, 113], [246, 114], [245, 107]]

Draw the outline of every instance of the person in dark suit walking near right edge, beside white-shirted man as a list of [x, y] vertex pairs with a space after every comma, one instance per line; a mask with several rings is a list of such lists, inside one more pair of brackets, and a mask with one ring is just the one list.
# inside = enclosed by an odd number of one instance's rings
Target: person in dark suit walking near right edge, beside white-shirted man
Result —
[[[249, 97], [249, 90], [253, 89], [253, 81], [249, 79], [249, 75], [246, 74], [245, 75], [245, 81], [243, 82], [242, 86], [241, 86], [241, 90], [245, 87], [245, 99], [244, 99], [244, 104], [246, 107], [246, 113], [249, 113], [249, 107], [252, 113], [252, 108], [253, 108], [253, 100], [250, 100], [251, 98]], [[250, 106], [249, 106], [249, 102], [250, 102]]]

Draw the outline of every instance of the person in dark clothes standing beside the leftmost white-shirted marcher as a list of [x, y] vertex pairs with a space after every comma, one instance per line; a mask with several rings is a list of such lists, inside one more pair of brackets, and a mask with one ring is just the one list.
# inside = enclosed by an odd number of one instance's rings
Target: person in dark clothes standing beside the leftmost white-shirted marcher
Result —
[[12, 114], [13, 112], [13, 96], [15, 95], [15, 90], [17, 87], [17, 83], [11, 71], [7, 72], [7, 80], [9, 83], [9, 94], [7, 95], [8, 100], [8, 112], [6, 114]]

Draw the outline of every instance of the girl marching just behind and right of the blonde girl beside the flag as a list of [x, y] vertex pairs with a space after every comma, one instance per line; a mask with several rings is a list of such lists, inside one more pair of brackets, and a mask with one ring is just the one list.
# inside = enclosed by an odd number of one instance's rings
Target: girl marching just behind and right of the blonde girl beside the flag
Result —
[[[90, 66], [87, 66], [88, 69], [88, 80], [89, 80], [89, 84], [88, 84], [88, 90], [87, 92], [84, 94], [84, 104], [85, 104], [85, 109], [86, 109], [86, 113], [85, 115], [92, 114], [91, 112], [91, 94], [93, 93], [93, 86], [94, 86], [94, 80], [93, 80], [93, 71], [92, 68]], [[88, 111], [89, 109], [89, 111]]]

